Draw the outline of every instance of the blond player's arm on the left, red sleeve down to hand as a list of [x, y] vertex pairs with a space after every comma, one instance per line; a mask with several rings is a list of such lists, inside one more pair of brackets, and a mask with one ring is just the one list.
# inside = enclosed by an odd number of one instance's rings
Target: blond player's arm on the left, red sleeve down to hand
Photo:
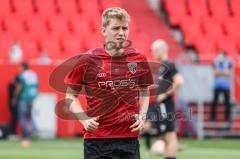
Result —
[[[84, 129], [93, 132], [98, 128], [99, 123], [97, 117], [90, 117], [88, 113], [84, 112], [81, 103], [78, 100], [78, 95], [82, 87], [87, 83], [95, 81], [96, 74], [101, 66], [101, 59], [92, 54], [85, 54], [76, 58], [72, 70], [64, 79], [67, 85], [66, 104], [68, 109], [74, 113], [77, 119], [82, 123]], [[71, 64], [69, 62], [69, 64]], [[68, 65], [66, 65], [69, 67]], [[89, 111], [89, 110], [88, 110]]]

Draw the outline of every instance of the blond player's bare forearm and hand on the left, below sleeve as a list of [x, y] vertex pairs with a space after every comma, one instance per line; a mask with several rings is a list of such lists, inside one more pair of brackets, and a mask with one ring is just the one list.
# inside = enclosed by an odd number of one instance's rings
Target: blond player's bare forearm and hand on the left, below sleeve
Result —
[[78, 91], [68, 87], [66, 102], [69, 110], [76, 115], [86, 131], [93, 132], [98, 128], [99, 123], [97, 122], [97, 117], [90, 118], [84, 113], [83, 107], [78, 100]]

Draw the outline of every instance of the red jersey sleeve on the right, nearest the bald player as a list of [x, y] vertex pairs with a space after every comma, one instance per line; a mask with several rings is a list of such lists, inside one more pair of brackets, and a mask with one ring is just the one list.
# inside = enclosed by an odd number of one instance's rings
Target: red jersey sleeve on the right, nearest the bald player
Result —
[[140, 64], [141, 66], [141, 70], [144, 72], [142, 74], [142, 76], [139, 79], [139, 83], [138, 86], [139, 87], [148, 87], [150, 85], [152, 85], [153, 82], [153, 78], [152, 78], [152, 72], [149, 66], [149, 63], [146, 59], [146, 57], [143, 57], [143, 61]]

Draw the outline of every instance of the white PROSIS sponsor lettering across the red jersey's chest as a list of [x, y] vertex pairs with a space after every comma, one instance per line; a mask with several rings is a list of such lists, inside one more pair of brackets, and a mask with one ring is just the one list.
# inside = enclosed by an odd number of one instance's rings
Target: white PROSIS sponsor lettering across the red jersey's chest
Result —
[[109, 81], [101, 81], [98, 82], [98, 86], [100, 88], [133, 88], [135, 86], [134, 79], [128, 80], [109, 80]]

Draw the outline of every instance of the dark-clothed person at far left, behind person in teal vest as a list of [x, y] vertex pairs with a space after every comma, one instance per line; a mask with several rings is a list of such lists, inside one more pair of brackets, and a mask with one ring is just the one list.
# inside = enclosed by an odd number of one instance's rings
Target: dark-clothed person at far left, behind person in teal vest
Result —
[[17, 103], [18, 103], [18, 97], [16, 97], [16, 102], [14, 102], [14, 92], [16, 90], [16, 84], [17, 84], [17, 76], [9, 83], [8, 85], [8, 101], [9, 101], [9, 110], [11, 112], [11, 119], [9, 123], [10, 128], [10, 135], [16, 135], [16, 126], [18, 122], [18, 115], [17, 115]]

